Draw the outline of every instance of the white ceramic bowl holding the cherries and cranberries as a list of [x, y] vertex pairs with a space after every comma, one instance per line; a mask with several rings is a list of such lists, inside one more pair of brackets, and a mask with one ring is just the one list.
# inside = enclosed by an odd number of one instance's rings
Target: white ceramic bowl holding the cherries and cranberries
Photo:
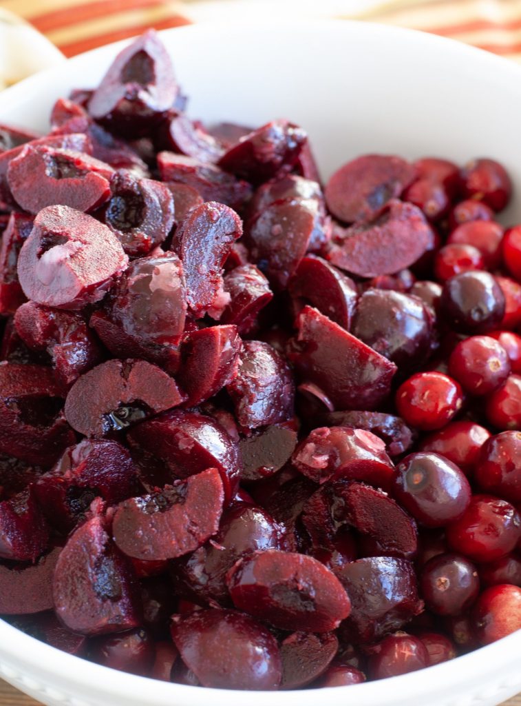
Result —
[[[521, 68], [421, 32], [348, 22], [200, 25], [163, 32], [193, 116], [311, 133], [324, 177], [364, 152], [500, 160], [521, 193]], [[92, 87], [121, 44], [0, 94], [0, 122], [46, 128], [56, 97]], [[521, 221], [521, 198], [506, 220]], [[226, 646], [223, 645], [223, 650]], [[0, 621], [0, 675], [49, 706], [472, 706], [521, 690], [521, 630], [452, 662], [385, 681], [243, 693], [150, 681], [58, 652]]]

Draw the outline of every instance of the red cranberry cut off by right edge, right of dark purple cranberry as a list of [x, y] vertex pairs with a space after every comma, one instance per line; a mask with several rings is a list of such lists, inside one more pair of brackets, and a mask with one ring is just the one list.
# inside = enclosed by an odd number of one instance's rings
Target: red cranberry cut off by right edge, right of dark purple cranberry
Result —
[[485, 493], [521, 502], [520, 431], [503, 431], [484, 443], [474, 479]]

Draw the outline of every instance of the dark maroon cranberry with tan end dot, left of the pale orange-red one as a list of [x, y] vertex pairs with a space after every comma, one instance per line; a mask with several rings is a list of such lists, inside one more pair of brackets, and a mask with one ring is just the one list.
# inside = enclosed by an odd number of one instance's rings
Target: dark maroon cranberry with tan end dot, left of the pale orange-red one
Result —
[[440, 554], [427, 561], [419, 585], [427, 608], [440, 616], [459, 615], [479, 593], [477, 568], [460, 554]]

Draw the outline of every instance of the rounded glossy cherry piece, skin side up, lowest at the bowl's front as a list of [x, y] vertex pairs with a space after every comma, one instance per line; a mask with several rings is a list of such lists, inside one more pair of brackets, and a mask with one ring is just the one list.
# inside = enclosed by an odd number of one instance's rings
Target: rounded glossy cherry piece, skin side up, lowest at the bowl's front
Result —
[[265, 691], [280, 686], [282, 662], [277, 642], [250, 616], [236, 611], [195, 611], [174, 617], [171, 630], [183, 662], [203, 686]]

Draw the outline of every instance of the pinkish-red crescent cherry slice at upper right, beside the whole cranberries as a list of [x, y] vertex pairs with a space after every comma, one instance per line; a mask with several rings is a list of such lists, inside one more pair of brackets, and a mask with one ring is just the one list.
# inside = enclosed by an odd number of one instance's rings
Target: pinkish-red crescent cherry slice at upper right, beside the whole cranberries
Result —
[[328, 259], [359, 277], [392, 275], [415, 263], [431, 239], [431, 227], [419, 208], [393, 199], [375, 220], [355, 223], [333, 237]]

